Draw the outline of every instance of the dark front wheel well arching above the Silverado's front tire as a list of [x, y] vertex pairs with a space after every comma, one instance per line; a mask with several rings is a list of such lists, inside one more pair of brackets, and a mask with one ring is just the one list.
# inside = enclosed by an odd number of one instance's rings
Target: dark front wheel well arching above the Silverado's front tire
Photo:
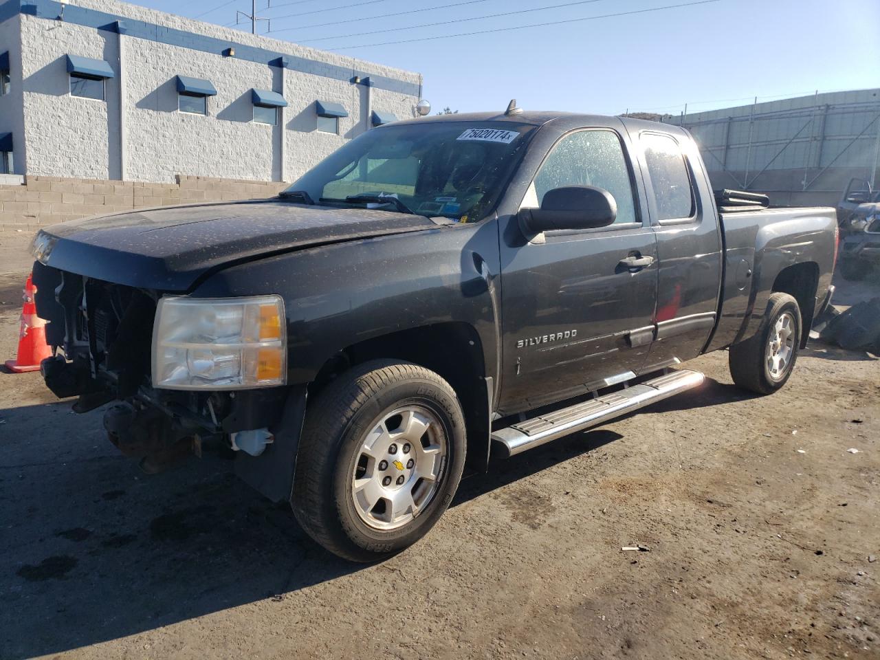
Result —
[[480, 335], [466, 323], [438, 323], [384, 334], [344, 348], [324, 363], [311, 385], [315, 396], [343, 371], [377, 358], [406, 360], [435, 371], [458, 395], [465, 415], [467, 468], [485, 472], [489, 400]]

